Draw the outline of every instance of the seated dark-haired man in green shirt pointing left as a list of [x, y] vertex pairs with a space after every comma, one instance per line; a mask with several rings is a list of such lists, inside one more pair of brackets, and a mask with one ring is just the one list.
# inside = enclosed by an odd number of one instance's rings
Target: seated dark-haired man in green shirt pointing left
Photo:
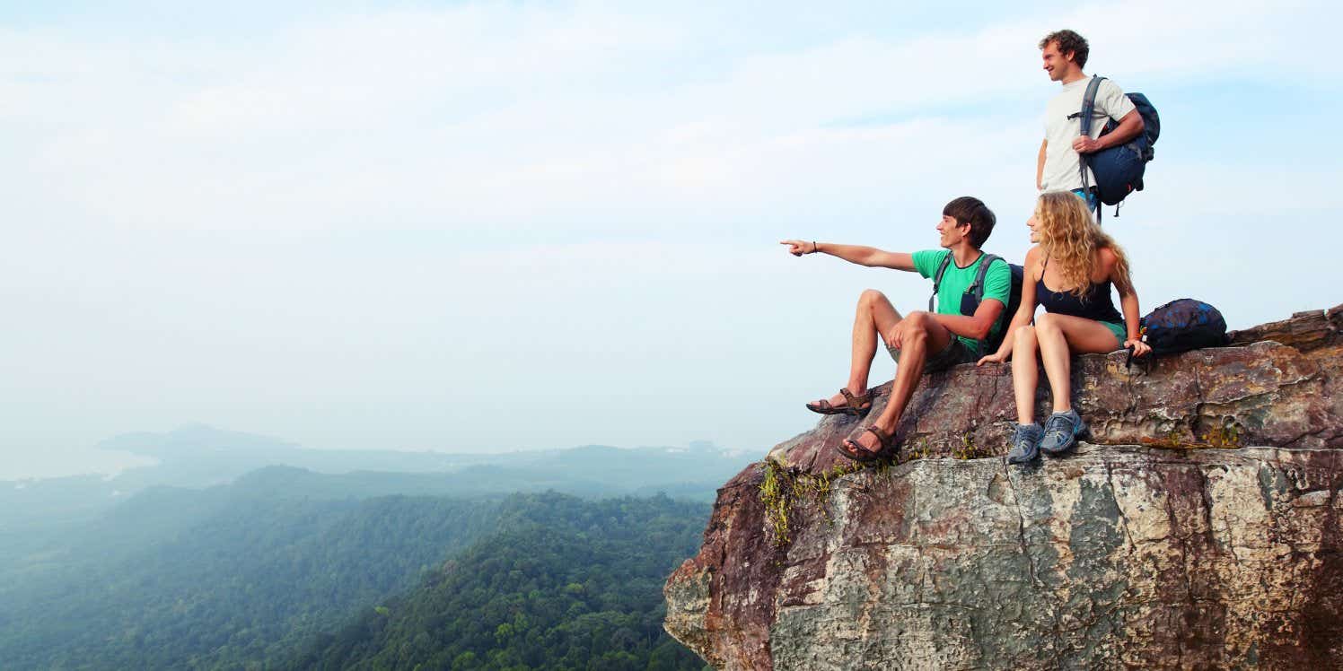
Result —
[[[813, 240], [784, 240], [794, 256], [829, 254], [850, 263], [916, 271], [933, 279], [947, 255], [951, 263], [937, 285], [937, 309], [933, 313], [913, 311], [905, 317], [890, 305], [885, 294], [869, 289], [858, 297], [858, 314], [853, 321], [853, 361], [849, 382], [830, 399], [808, 403], [807, 408], [822, 415], [865, 415], [872, 409], [868, 373], [877, 354], [877, 336], [897, 364], [896, 381], [890, 389], [890, 403], [881, 416], [864, 427], [857, 437], [839, 447], [849, 459], [869, 462], [889, 454], [896, 447], [896, 427], [909, 397], [924, 370], [945, 370], [956, 364], [978, 361], [983, 354], [980, 344], [1003, 329], [1005, 307], [1011, 295], [1011, 271], [1003, 260], [994, 260], [984, 275], [984, 299], [974, 305], [974, 294], [967, 291], [979, 272], [984, 252], [979, 248], [994, 231], [992, 211], [979, 199], [962, 196], [947, 203], [937, 221], [941, 250], [913, 254], [890, 252], [855, 244], [818, 243]], [[1010, 317], [1010, 315], [1007, 315]]]

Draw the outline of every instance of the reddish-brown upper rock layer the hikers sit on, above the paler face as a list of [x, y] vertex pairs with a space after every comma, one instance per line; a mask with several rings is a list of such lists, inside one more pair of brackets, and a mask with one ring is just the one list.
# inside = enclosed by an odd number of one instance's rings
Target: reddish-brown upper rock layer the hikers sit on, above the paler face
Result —
[[[1343, 306], [1301, 313], [1232, 334], [1236, 346], [1160, 357], [1148, 369], [1125, 368], [1125, 354], [1073, 360], [1073, 407], [1097, 444], [1160, 447], [1343, 447]], [[1254, 337], [1281, 337], [1296, 346]], [[890, 382], [876, 389], [885, 407]], [[1044, 372], [1037, 419], [1049, 413]], [[923, 377], [897, 435], [901, 460], [920, 456], [1001, 456], [1017, 420], [1011, 365], [959, 365]], [[834, 415], [770, 456], [802, 472], [847, 463], [834, 447], [860, 421]]]

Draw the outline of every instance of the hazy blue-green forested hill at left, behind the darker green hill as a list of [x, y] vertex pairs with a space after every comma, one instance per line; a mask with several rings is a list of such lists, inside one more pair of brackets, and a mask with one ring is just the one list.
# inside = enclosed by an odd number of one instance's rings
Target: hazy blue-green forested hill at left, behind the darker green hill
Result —
[[227, 490], [158, 490], [132, 503], [74, 545], [0, 569], [0, 667], [240, 668], [282, 658], [412, 588], [492, 531], [498, 513], [497, 501]]

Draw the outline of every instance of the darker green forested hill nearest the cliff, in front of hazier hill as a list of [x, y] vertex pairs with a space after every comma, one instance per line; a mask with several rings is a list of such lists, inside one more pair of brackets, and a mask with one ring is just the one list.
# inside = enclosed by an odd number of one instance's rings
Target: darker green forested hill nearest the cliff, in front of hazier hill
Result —
[[704, 668], [662, 631], [661, 585], [698, 546], [706, 505], [557, 494], [513, 503], [498, 534], [286, 666]]

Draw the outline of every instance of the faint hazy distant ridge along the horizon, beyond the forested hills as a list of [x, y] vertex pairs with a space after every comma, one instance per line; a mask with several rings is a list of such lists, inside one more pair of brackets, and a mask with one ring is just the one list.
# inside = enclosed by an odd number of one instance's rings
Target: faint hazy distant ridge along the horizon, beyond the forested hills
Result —
[[[556, 490], [580, 497], [650, 495], [712, 501], [724, 479], [751, 462], [694, 442], [686, 448], [582, 446], [504, 454], [306, 450], [275, 437], [191, 424], [137, 432], [98, 444], [158, 460], [115, 476], [0, 480], [0, 534], [93, 519], [156, 486], [201, 488], [269, 468], [299, 468], [316, 491], [373, 495], [488, 495]], [[262, 476], [262, 475], [258, 475]], [[3, 557], [4, 553], [0, 553]]]

